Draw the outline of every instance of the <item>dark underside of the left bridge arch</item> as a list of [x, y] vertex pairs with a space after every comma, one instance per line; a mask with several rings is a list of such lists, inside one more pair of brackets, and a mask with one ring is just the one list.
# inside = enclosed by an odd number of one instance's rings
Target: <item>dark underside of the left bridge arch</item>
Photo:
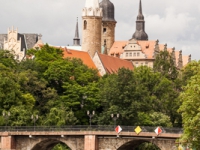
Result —
[[59, 143], [67, 145], [71, 150], [75, 150], [74, 146], [70, 142], [63, 140], [62, 138], [44, 139], [36, 143], [31, 150], [52, 150], [53, 147]]

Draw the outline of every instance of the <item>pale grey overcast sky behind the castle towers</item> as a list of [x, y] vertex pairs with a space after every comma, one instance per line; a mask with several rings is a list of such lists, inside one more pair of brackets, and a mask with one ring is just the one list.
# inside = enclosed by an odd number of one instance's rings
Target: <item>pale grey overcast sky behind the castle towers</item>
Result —
[[[101, 0], [100, 0], [101, 1]], [[99, 2], [100, 2], [99, 1]], [[139, 0], [111, 0], [115, 5], [116, 40], [127, 41], [135, 32]], [[85, 0], [0, 0], [0, 33], [17, 27], [20, 33], [41, 33], [42, 40], [58, 46], [72, 45], [76, 18]], [[199, 0], [142, 0], [149, 40], [183, 50], [200, 59]]]

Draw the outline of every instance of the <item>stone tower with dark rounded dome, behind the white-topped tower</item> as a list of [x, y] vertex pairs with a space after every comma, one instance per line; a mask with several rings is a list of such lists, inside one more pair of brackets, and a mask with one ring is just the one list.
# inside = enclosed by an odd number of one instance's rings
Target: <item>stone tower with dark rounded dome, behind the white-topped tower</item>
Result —
[[103, 11], [101, 45], [106, 45], [108, 53], [115, 41], [115, 7], [110, 0], [102, 0], [100, 7]]

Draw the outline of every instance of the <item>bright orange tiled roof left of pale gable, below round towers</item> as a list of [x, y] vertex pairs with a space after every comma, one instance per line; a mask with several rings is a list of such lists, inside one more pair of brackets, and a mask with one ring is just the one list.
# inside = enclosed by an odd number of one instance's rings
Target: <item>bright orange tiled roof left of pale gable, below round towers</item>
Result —
[[78, 58], [83, 61], [85, 65], [89, 68], [97, 69], [92, 58], [87, 52], [77, 51], [77, 50], [70, 50], [65, 48], [61, 48], [63, 50], [63, 57], [64, 58]]

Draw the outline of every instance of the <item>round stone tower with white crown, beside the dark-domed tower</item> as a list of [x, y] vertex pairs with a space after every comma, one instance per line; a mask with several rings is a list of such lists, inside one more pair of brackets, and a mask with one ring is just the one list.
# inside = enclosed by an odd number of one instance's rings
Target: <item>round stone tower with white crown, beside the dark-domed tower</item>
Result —
[[98, 0], [86, 0], [82, 21], [82, 50], [93, 57], [95, 52], [101, 52], [102, 8]]

